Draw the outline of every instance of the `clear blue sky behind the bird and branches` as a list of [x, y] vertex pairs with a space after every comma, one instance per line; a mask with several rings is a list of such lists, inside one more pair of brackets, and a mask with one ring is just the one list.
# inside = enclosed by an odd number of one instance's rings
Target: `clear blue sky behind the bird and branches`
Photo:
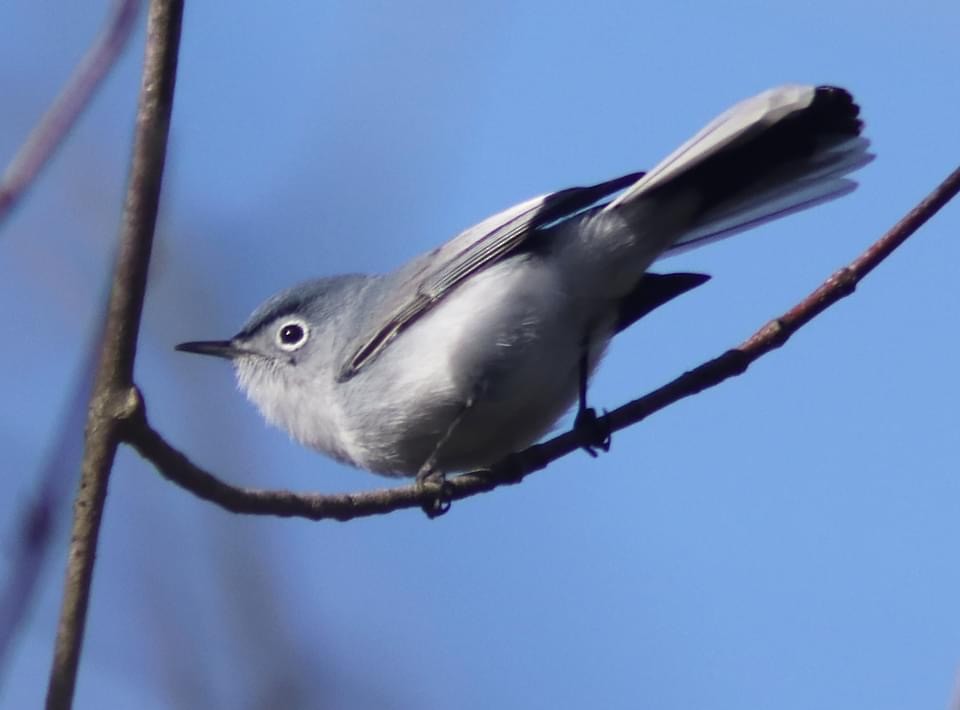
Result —
[[[0, 162], [102, 22], [107, 3], [80, 5], [0, 7]], [[137, 367], [152, 419], [231, 481], [380, 485], [172, 346], [305, 277], [390, 269], [521, 199], [650, 167], [769, 86], [849, 88], [878, 154], [860, 189], [661, 264], [714, 279], [615, 344], [592, 399], [640, 395], [956, 167], [958, 29], [953, 0], [189, 3]], [[0, 235], [4, 549], [96, 317], [141, 50]], [[437, 521], [235, 517], [124, 452], [77, 707], [945, 707], [958, 263], [960, 203], [744, 377]], [[64, 518], [3, 707], [43, 695], [67, 536]]]

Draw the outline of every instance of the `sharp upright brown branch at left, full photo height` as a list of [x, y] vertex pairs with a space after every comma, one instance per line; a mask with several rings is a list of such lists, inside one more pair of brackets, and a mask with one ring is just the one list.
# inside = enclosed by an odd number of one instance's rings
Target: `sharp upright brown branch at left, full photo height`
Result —
[[133, 159], [103, 346], [87, 414], [86, 448], [74, 501], [47, 708], [69, 708], [73, 703], [110, 469], [123, 428], [136, 409], [133, 363], [173, 107], [182, 16], [183, 0], [151, 0]]

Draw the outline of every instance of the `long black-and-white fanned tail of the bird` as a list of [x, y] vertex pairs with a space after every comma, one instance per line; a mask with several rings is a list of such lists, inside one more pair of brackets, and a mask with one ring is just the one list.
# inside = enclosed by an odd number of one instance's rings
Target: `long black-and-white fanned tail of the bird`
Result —
[[859, 113], [837, 87], [765, 91], [714, 119], [604, 211], [689, 200], [690, 220], [666, 255], [835, 199], [856, 187], [844, 176], [874, 157]]

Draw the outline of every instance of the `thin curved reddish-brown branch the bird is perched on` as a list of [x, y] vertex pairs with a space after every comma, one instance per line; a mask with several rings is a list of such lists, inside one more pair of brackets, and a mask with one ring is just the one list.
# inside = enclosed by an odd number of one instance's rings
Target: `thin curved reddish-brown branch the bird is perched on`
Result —
[[[615, 409], [602, 417], [601, 421], [607, 422], [611, 431], [618, 431], [685, 397], [743, 374], [754, 360], [783, 345], [791, 335], [817, 315], [853, 293], [861, 279], [890, 256], [958, 192], [960, 168], [862, 255], [834, 273], [783, 316], [763, 326], [736, 348], [684, 373], [650, 394]], [[168, 480], [234, 513], [301, 517], [310, 520], [351, 520], [402, 508], [429, 507], [439, 492], [435, 485], [407, 485], [334, 495], [232, 486], [193, 464], [151, 428], [139, 394], [133, 406], [136, 412], [125, 431], [126, 441], [153, 463]], [[445, 484], [443, 495], [449, 500], [459, 500], [501, 485], [519, 483], [526, 475], [545, 468], [552, 461], [588, 443], [581, 432], [569, 431], [543, 444], [508, 456], [489, 471], [475, 471], [451, 478]]]

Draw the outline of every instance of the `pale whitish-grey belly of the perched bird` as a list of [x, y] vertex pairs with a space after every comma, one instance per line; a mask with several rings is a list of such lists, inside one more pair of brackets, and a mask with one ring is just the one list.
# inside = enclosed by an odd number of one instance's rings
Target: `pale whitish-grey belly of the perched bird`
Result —
[[558, 278], [535, 258], [498, 264], [398, 337], [359, 376], [378, 395], [365, 419], [345, 401], [358, 465], [414, 475], [436, 454], [467, 470], [549, 431], [576, 399], [588, 320]]

